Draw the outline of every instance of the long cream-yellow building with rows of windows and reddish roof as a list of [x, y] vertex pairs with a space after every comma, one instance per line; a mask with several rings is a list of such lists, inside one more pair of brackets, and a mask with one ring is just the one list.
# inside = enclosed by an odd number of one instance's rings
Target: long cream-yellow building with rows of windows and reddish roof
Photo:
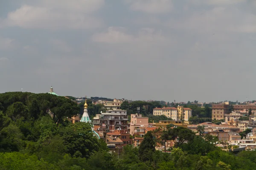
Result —
[[173, 120], [180, 120], [182, 118], [185, 121], [188, 121], [189, 118], [192, 116], [192, 109], [190, 108], [183, 108], [183, 106], [178, 106], [177, 108], [174, 107], [163, 107], [163, 108], [154, 108], [153, 115], [165, 115], [168, 118]]

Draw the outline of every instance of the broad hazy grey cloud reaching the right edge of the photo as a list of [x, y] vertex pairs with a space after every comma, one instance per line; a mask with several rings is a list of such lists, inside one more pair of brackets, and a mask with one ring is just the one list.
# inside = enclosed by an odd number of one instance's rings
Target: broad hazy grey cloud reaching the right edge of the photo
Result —
[[215, 7], [196, 11], [180, 20], [169, 20], [171, 28], [199, 33], [256, 32], [256, 15], [241, 12], [238, 8]]

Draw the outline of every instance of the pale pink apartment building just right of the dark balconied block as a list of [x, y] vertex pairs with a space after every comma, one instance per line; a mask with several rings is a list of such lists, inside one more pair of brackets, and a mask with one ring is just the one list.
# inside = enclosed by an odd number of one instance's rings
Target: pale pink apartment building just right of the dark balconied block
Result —
[[142, 117], [141, 114], [131, 114], [130, 134], [145, 134], [144, 127], [148, 127], [148, 117]]

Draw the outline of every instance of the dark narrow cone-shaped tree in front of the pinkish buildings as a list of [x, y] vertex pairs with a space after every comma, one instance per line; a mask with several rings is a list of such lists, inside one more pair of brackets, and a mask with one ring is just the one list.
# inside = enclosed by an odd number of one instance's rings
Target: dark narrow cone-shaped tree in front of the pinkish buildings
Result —
[[156, 150], [155, 147], [155, 136], [151, 131], [148, 131], [139, 147], [139, 159], [141, 161], [152, 161], [152, 155]]

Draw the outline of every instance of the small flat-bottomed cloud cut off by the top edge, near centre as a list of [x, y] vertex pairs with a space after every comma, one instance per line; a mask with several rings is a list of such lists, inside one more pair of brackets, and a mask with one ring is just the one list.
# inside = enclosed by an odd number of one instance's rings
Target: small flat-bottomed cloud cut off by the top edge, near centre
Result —
[[172, 10], [172, 0], [126, 0], [134, 11], [142, 11], [150, 14], [163, 14]]

